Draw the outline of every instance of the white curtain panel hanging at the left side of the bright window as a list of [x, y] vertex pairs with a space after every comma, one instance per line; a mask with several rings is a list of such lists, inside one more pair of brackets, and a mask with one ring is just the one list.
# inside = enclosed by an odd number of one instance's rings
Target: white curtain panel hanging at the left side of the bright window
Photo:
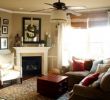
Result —
[[[71, 18], [70, 16], [68, 15], [67, 16], [67, 23], [62, 23], [62, 24], [59, 24], [58, 25], [58, 42], [57, 42], [57, 45], [58, 45], [58, 53], [57, 53], [57, 66], [59, 68], [61, 68], [63, 65], [67, 65], [67, 60], [68, 60], [68, 54], [66, 55], [66, 52], [64, 53], [63, 51], [64, 50], [64, 43], [65, 41], [64, 40], [68, 40], [69, 38], [67, 39], [64, 39], [65, 38], [65, 34], [68, 34], [69, 36], [69, 32], [68, 32], [68, 27], [71, 26]], [[68, 53], [68, 52], [67, 52]], [[66, 60], [65, 60], [66, 59]], [[63, 64], [65, 62], [65, 64]]]

